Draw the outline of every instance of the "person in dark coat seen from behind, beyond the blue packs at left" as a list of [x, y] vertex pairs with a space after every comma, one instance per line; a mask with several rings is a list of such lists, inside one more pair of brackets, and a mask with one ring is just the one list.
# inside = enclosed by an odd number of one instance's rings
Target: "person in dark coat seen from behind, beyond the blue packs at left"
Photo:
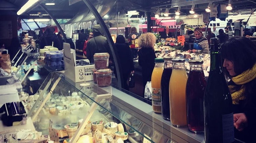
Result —
[[40, 41], [40, 49], [43, 49], [44, 46], [51, 46], [53, 44], [53, 47], [61, 49], [60, 40], [54, 33], [55, 29], [53, 27], [48, 27], [46, 29], [46, 36], [43, 37]]

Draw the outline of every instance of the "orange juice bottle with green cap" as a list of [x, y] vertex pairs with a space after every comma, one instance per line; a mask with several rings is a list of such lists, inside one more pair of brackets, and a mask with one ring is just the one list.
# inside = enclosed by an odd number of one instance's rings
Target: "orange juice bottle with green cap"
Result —
[[163, 73], [163, 58], [155, 58], [155, 68], [151, 76], [153, 111], [161, 113], [161, 77]]

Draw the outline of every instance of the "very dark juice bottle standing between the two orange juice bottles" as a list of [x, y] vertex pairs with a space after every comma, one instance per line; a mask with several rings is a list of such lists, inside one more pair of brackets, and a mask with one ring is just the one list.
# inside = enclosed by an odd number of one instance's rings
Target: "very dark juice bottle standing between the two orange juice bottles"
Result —
[[161, 77], [161, 101], [163, 119], [170, 120], [169, 83], [172, 74], [172, 59], [175, 57], [163, 57], [164, 67]]

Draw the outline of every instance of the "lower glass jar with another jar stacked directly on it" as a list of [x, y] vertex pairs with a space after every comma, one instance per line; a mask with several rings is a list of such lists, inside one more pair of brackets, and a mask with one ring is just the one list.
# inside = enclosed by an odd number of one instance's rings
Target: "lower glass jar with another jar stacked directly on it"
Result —
[[107, 87], [111, 85], [111, 69], [101, 69], [96, 72], [97, 84], [99, 87]]

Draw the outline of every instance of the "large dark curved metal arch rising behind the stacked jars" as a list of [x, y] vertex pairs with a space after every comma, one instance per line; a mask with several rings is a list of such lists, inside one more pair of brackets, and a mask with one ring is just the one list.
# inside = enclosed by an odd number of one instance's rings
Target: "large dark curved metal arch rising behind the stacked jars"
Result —
[[115, 48], [115, 43], [114, 43], [114, 41], [111, 38], [111, 35], [110, 35], [109, 31], [108, 31], [108, 28], [107, 28], [106, 24], [104, 23], [103, 19], [101, 18], [100, 14], [96, 10], [96, 8], [93, 6], [93, 4], [89, 0], [83, 0], [83, 1], [87, 5], [87, 7], [93, 12], [97, 22], [100, 24], [102, 30], [106, 34], [106, 38], [107, 38], [107, 41], [109, 43], [110, 50], [111, 50], [111, 53], [112, 53], [114, 61], [115, 61], [115, 67], [116, 67], [117, 79], [118, 79], [117, 80], [117, 82], [118, 82], [118, 89], [120, 90], [121, 87], [124, 87], [124, 85], [123, 85], [123, 79], [121, 78], [122, 77], [121, 76], [122, 72], [121, 72], [121, 69], [120, 69], [120, 66], [119, 66], [120, 65], [120, 60], [117, 60], [118, 55], [117, 55], [117, 50]]

